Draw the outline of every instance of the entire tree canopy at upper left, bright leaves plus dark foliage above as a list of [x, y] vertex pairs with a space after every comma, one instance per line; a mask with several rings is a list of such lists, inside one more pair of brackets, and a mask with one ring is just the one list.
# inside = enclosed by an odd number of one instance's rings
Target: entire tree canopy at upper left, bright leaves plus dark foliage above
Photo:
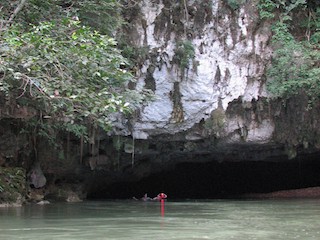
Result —
[[112, 113], [144, 100], [126, 88], [133, 77], [110, 37], [122, 23], [120, 7], [114, 0], [1, 5], [0, 92], [38, 110], [28, 122], [38, 133], [54, 127], [80, 136], [88, 124], [110, 130]]

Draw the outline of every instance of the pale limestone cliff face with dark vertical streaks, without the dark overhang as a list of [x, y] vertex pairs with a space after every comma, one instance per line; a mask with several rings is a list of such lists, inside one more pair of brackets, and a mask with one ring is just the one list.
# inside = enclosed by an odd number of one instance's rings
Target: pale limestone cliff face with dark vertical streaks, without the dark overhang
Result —
[[[137, 88], [150, 88], [156, 95], [133, 125], [136, 139], [183, 132], [216, 111], [224, 114], [236, 99], [250, 103], [267, 96], [270, 26], [259, 21], [256, 1], [237, 9], [226, 2], [141, 1], [136, 6], [128, 35], [136, 47], [148, 49], [137, 71]], [[192, 44], [194, 57], [181, 66], [177, 49], [184, 41]], [[236, 116], [220, 120], [224, 135], [243, 126]], [[253, 125], [249, 141], [270, 140], [272, 121]], [[191, 132], [186, 139], [203, 137], [197, 135]]]

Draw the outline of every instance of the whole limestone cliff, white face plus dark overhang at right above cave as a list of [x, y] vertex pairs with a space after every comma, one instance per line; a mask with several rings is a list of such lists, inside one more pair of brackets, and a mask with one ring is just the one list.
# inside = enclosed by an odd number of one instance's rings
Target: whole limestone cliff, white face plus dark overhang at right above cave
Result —
[[[216, 155], [233, 147], [246, 152], [249, 146], [264, 151], [250, 159], [264, 160], [294, 158], [300, 147], [317, 151], [316, 109], [307, 110], [304, 97], [283, 102], [266, 91], [271, 23], [259, 18], [257, 4], [158, 0], [128, 5], [125, 35], [141, 50], [135, 88], [152, 90], [155, 100], [140, 109], [126, 134], [160, 152]], [[293, 105], [298, 111], [288, 112]], [[308, 116], [308, 123], [301, 116]], [[146, 150], [137, 145], [137, 153], [141, 148]]]

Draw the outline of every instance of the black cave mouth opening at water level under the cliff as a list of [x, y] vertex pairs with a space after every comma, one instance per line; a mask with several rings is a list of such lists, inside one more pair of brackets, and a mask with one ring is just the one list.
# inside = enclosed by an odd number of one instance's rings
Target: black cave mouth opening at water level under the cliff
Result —
[[106, 184], [96, 177], [88, 199], [130, 199], [165, 192], [170, 199], [239, 198], [247, 193], [320, 186], [320, 161], [180, 163], [139, 181]]

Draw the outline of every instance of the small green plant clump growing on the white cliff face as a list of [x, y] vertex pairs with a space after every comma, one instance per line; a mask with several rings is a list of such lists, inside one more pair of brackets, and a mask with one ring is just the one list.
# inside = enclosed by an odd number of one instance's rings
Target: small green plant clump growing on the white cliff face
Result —
[[180, 41], [176, 44], [174, 62], [179, 65], [181, 69], [188, 69], [190, 60], [195, 57], [195, 49], [192, 42]]

